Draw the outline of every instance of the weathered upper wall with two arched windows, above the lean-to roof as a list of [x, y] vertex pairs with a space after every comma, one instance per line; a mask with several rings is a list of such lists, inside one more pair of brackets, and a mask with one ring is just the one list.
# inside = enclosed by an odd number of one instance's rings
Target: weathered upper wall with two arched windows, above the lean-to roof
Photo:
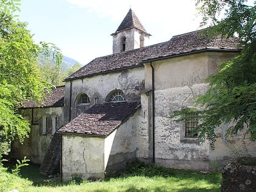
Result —
[[[122, 90], [126, 101], [140, 100], [140, 91], [144, 89], [143, 67], [125, 69], [120, 72], [99, 74], [84, 79], [72, 80], [72, 92], [70, 82], [66, 82], [65, 90], [65, 121], [68, 123], [69, 112], [71, 119], [75, 118], [87, 108], [97, 103], [105, 102], [108, 94], [113, 90]], [[82, 107], [76, 105], [79, 94], [85, 93], [90, 98], [90, 104]], [[69, 105], [71, 94], [71, 105]], [[71, 108], [69, 108], [71, 107]]]

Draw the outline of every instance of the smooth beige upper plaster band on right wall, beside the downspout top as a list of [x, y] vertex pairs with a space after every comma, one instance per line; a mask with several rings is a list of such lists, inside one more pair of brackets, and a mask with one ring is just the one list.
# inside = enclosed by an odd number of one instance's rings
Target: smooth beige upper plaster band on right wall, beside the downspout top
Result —
[[155, 90], [204, 83], [208, 77], [206, 54], [194, 54], [155, 62]]

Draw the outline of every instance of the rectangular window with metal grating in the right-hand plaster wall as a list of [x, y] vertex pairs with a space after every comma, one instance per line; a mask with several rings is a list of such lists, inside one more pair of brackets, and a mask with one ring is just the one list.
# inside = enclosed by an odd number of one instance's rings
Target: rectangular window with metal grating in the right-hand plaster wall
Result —
[[198, 133], [191, 135], [191, 132], [193, 132], [199, 124], [199, 113], [187, 112], [185, 116], [185, 137], [198, 137]]

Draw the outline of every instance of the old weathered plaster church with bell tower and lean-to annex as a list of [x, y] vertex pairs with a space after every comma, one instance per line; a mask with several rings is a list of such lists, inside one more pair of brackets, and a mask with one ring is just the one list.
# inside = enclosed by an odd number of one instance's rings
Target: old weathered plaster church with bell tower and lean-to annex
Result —
[[62, 180], [69, 180], [73, 175], [104, 178], [136, 159], [209, 171], [237, 155], [255, 155], [256, 143], [242, 132], [226, 138], [227, 126], [219, 127], [212, 151], [207, 141], [199, 143], [200, 133], [190, 134], [200, 123], [197, 115], [188, 123], [169, 118], [176, 110], [196, 108], [195, 99], [207, 91], [205, 79], [218, 72], [218, 63], [240, 54], [236, 38], [201, 34], [197, 30], [148, 46], [151, 34], [130, 9], [112, 34], [113, 54], [66, 77], [65, 86], [52, 92], [53, 98], [62, 94], [52, 105], [21, 109], [32, 122], [27, 142], [34, 144], [13, 144], [14, 156], [27, 153], [48, 167], [48, 174], [58, 166]]

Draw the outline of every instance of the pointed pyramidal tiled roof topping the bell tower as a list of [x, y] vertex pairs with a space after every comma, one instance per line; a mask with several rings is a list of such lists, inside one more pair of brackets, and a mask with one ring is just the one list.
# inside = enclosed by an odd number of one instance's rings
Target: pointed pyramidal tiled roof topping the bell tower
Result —
[[127, 13], [126, 17], [124, 18], [124, 20], [118, 27], [118, 29], [116, 29], [116, 33], [123, 31], [123, 30], [132, 29], [132, 28], [139, 29], [139, 30], [143, 31], [145, 34], [148, 34], [146, 32], [146, 29], [140, 23], [140, 20], [138, 20], [137, 16], [133, 12], [133, 10], [130, 9], [129, 12]]

